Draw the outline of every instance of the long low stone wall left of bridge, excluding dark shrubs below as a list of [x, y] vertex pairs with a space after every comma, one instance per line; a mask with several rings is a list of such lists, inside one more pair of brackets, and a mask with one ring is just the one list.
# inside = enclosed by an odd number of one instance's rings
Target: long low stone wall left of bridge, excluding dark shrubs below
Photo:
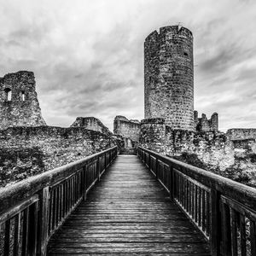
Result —
[[[83, 127], [11, 127], [0, 131], [0, 148], [17, 148], [17, 145], [19, 150], [37, 148], [42, 154], [44, 172], [111, 148], [116, 140]], [[0, 166], [0, 171], [3, 167]]]

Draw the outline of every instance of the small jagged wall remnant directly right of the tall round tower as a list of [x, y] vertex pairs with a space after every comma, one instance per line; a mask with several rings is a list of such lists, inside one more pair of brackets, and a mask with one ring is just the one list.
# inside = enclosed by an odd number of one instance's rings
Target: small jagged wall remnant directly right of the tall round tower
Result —
[[198, 118], [197, 111], [194, 111], [195, 130], [196, 131], [218, 131], [218, 113], [212, 113], [211, 119], [207, 119], [205, 113]]

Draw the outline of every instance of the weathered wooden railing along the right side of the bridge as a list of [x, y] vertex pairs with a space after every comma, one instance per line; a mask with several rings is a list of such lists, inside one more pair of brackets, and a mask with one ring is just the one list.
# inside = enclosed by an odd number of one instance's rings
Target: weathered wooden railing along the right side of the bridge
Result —
[[256, 255], [256, 189], [145, 148], [137, 153], [210, 241], [212, 255]]

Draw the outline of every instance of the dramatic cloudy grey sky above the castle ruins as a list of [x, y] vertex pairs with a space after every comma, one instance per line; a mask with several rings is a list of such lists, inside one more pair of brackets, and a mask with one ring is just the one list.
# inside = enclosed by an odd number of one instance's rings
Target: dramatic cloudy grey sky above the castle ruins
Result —
[[256, 127], [255, 0], [0, 0], [0, 76], [35, 73], [48, 125], [113, 129], [143, 119], [144, 38], [178, 22], [195, 38], [195, 109]]

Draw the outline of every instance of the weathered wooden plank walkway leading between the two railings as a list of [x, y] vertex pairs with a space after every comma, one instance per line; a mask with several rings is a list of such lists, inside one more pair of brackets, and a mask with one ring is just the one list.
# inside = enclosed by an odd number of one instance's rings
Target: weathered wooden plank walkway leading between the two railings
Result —
[[119, 155], [48, 255], [205, 255], [209, 246], [136, 155]]

